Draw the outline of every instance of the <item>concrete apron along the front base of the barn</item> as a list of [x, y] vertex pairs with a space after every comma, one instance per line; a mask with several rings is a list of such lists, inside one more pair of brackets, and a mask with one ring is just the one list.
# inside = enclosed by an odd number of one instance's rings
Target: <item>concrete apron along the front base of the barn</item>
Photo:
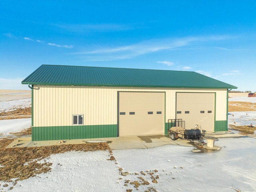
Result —
[[[209, 134], [216, 138], [220, 137], [241, 137], [240, 134], [222, 132], [218, 134]], [[85, 144], [93, 142], [108, 142], [110, 149], [134, 149], [134, 148], [152, 148], [162, 145], [193, 145], [187, 140], [171, 140], [169, 135], [147, 135], [147, 136], [121, 136], [111, 138], [95, 138], [95, 139], [72, 139], [72, 140], [49, 140], [49, 141], [32, 141], [31, 137], [20, 137], [14, 140], [6, 148], [20, 148], [20, 147], [40, 147], [52, 145], [66, 145], [66, 144]]]

